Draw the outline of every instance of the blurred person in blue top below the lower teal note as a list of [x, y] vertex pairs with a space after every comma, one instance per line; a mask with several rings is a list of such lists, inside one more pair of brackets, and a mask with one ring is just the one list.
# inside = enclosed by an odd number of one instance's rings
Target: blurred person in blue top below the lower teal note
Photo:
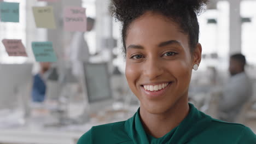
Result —
[[34, 75], [33, 87], [32, 87], [32, 101], [36, 103], [42, 103], [45, 99], [46, 85], [45, 85], [45, 73], [51, 67], [49, 62], [41, 62], [40, 71]]

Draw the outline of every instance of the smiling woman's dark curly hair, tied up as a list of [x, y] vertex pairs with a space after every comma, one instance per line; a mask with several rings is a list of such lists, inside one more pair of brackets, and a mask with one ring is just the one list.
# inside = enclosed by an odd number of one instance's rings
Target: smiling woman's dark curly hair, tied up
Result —
[[176, 22], [182, 32], [188, 34], [190, 50], [193, 52], [199, 40], [199, 15], [208, 0], [112, 0], [110, 11], [115, 20], [122, 23], [122, 39], [126, 53], [126, 33], [131, 22], [147, 11], [159, 13]]

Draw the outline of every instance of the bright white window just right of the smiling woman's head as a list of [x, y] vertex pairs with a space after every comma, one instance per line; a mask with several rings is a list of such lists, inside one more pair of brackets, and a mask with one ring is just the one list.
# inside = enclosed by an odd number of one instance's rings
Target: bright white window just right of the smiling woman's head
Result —
[[[208, 66], [226, 70], [229, 58], [229, 2], [218, 2], [214, 8], [200, 15], [198, 20], [199, 43], [202, 45], [202, 55], [206, 56], [200, 64], [200, 70]], [[218, 59], [214, 58], [216, 54]]]

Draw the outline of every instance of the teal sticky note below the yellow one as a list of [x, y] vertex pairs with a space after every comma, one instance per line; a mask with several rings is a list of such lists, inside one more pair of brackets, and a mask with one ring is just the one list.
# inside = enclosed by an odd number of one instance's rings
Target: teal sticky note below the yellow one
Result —
[[51, 41], [32, 42], [32, 50], [37, 62], [56, 62], [57, 57]]

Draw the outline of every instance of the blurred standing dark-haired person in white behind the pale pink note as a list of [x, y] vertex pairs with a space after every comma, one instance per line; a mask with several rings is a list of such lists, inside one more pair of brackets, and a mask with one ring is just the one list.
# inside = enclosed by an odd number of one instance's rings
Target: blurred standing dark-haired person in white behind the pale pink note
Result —
[[[92, 31], [94, 28], [95, 20], [91, 17], [87, 18], [87, 32]], [[90, 52], [88, 44], [84, 38], [85, 32], [75, 32], [71, 40], [67, 55], [70, 58], [72, 64], [72, 73], [76, 77], [80, 77], [83, 71], [83, 62], [88, 62], [90, 58]]]

